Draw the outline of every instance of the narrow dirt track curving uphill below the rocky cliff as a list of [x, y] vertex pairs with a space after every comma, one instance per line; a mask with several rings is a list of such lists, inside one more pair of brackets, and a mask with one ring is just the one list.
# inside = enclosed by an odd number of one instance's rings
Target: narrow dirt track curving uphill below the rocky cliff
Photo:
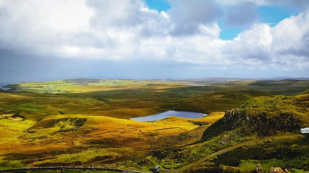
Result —
[[161, 173], [179, 173], [179, 172], [182, 172], [182, 171], [185, 171], [185, 170], [188, 170], [189, 168], [193, 167], [193, 166], [196, 166], [196, 165], [199, 165], [203, 162], [205, 162], [206, 160], [212, 158], [212, 157], [215, 157], [215, 156], [218, 156], [218, 155], [221, 155], [223, 153], [226, 153], [226, 152], [229, 152], [229, 151], [232, 151], [236, 148], [239, 148], [241, 146], [244, 146], [244, 145], [247, 145], [247, 144], [252, 144], [252, 143], [257, 143], [257, 142], [260, 142], [260, 141], [265, 141], [265, 140], [269, 140], [269, 139], [273, 139], [273, 138], [279, 138], [279, 137], [287, 137], [287, 136], [294, 136], [294, 135], [300, 135], [300, 134], [295, 134], [295, 133], [291, 133], [291, 134], [283, 134], [283, 135], [277, 135], [277, 136], [270, 136], [270, 137], [266, 137], [266, 138], [259, 138], [259, 139], [255, 139], [255, 140], [251, 140], [251, 141], [245, 141], [243, 143], [239, 143], [239, 144], [236, 144], [236, 145], [233, 145], [233, 146], [230, 146], [228, 148], [225, 148], [223, 150], [220, 150], [218, 152], [215, 152], [215, 153], [212, 153], [204, 158], [201, 158], [199, 160], [196, 160], [195, 162], [192, 162], [191, 164], [188, 164], [186, 166], [183, 166], [183, 167], [180, 167], [178, 169], [175, 169], [175, 170], [162, 170], [160, 171]]

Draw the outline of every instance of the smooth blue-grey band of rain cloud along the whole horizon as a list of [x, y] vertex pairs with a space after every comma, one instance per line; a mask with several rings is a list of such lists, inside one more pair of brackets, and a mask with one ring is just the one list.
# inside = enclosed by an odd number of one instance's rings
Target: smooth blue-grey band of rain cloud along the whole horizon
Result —
[[[234, 64], [233, 70], [174, 61], [84, 60], [76, 58], [40, 58], [15, 55], [0, 50], [0, 84], [63, 79], [184, 79], [184, 78], [269, 78], [274, 76], [308, 77], [309, 71], [295, 69], [250, 69]], [[224, 66], [222, 66], [224, 68]]]

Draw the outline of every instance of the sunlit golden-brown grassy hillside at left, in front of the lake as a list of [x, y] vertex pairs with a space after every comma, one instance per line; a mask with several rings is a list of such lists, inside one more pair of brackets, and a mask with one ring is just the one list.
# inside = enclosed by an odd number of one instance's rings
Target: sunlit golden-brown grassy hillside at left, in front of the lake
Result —
[[[221, 117], [222, 114], [215, 114], [194, 121], [212, 123]], [[18, 123], [24, 125], [27, 121]], [[8, 120], [0, 124], [1, 130], [14, 129], [12, 126], [5, 126], [6, 123]], [[0, 135], [0, 138], [12, 139], [6, 140], [0, 146], [2, 169], [23, 165], [96, 165], [148, 169], [133, 163], [127, 164], [128, 161], [138, 162], [150, 151], [160, 150], [165, 144], [164, 138], [190, 132], [198, 125], [194, 125], [189, 118], [177, 117], [155, 122], [138, 122], [106, 116], [47, 115], [30, 128], [25, 127], [23, 133], [15, 132], [12, 138], [6, 134]], [[196, 139], [192, 141], [196, 142]], [[123, 161], [125, 162], [122, 163]], [[119, 165], [118, 162], [122, 164]]]

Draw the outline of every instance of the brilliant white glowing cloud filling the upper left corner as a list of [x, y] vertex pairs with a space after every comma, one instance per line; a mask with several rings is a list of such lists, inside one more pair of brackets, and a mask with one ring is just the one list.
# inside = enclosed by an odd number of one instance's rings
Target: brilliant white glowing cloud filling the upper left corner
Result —
[[64, 41], [89, 29], [91, 15], [84, 0], [1, 0], [0, 47], [52, 55]]

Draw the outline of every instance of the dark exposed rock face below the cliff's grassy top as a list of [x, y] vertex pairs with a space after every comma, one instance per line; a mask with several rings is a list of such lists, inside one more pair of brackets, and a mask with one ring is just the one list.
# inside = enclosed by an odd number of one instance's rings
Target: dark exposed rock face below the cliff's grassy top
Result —
[[234, 109], [227, 111], [223, 118], [209, 126], [201, 141], [236, 129], [257, 133], [258, 137], [265, 137], [280, 132], [296, 132], [301, 126], [302, 121], [295, 115], [288, 113], [282, 113], [278, 116], [268, 116], [266, 113], [251, 115], [241, 109]]

